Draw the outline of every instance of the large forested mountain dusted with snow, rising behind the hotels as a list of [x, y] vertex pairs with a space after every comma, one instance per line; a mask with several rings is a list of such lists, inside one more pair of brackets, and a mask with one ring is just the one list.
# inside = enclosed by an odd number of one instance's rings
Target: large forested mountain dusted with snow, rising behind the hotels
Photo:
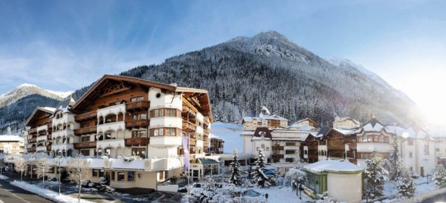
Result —
[[213, 116], [221, 122], [258, 115], [263, 105], [290, 122], [312, 117], [321, 124], [330, 124], [335, 115], [410, 124], [419, 115], [413, 101], [376, 74], [351, 62], [325, 60], [275, 31], [233, 38], [121, 75], [209, 90]]

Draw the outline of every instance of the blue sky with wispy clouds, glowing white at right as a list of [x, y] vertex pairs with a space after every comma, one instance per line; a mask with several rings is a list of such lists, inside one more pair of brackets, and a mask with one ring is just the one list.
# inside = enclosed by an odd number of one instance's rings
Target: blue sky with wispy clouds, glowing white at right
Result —
[[278, 31], [348, 58], [446, 114], [446, 1], [3, 1], [0, 94], [21, 83], [68, 91], [103, 74]]

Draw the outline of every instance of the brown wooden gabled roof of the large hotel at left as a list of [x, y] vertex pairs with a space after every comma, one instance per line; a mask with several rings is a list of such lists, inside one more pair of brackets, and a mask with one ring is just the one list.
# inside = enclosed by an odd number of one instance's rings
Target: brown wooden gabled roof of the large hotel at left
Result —
[[83, 106], [85, 103], [88, 103], [89, 101], [93, 100], [95, 97], [98, 97], [98, 89], [107, 86], [110, 84], [110, 81], [121, 81], [126, 83], [137, 83], [142, 86], [149, 86], [149, 87], [155, 87], [160, 88], [162, 90], [170, 90], [172, 92], [175, 91], [176, 87], [171, 86], [164, 83], [158, 83], [154, 81], [146, 81], [143, 79], [138, 79], [130, 76], [116, 76], [116, 75], [109, 75], [105, 74], [100, 78], [98, 81], [95, 82], [91, 88], [82, 95], [82, 97], [77, 100], [75, 105], [72, 106], [72, 110], [75, 110], [76, 108], [79, 108], [79, 106]]

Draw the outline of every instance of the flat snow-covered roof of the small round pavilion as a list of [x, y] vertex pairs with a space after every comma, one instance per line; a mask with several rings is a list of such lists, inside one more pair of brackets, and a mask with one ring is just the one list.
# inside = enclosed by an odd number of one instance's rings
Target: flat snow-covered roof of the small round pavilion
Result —
[[313, 172], [361, 172], [364, 168], [346, 160], [322, 160], [305, 165], [306, 170]]

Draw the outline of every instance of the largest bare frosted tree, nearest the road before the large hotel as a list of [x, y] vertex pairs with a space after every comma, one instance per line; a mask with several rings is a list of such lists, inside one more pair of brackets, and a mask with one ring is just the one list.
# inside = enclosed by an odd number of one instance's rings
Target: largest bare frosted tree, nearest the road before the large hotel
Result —
[[75, 159], [68, 161], [68, 179], [79, 186], [79, 194], [77, 196], [79, 202], [81, 201], [82, 182], [91, 177], [91, 169], [85, 159], [77, 156]]

